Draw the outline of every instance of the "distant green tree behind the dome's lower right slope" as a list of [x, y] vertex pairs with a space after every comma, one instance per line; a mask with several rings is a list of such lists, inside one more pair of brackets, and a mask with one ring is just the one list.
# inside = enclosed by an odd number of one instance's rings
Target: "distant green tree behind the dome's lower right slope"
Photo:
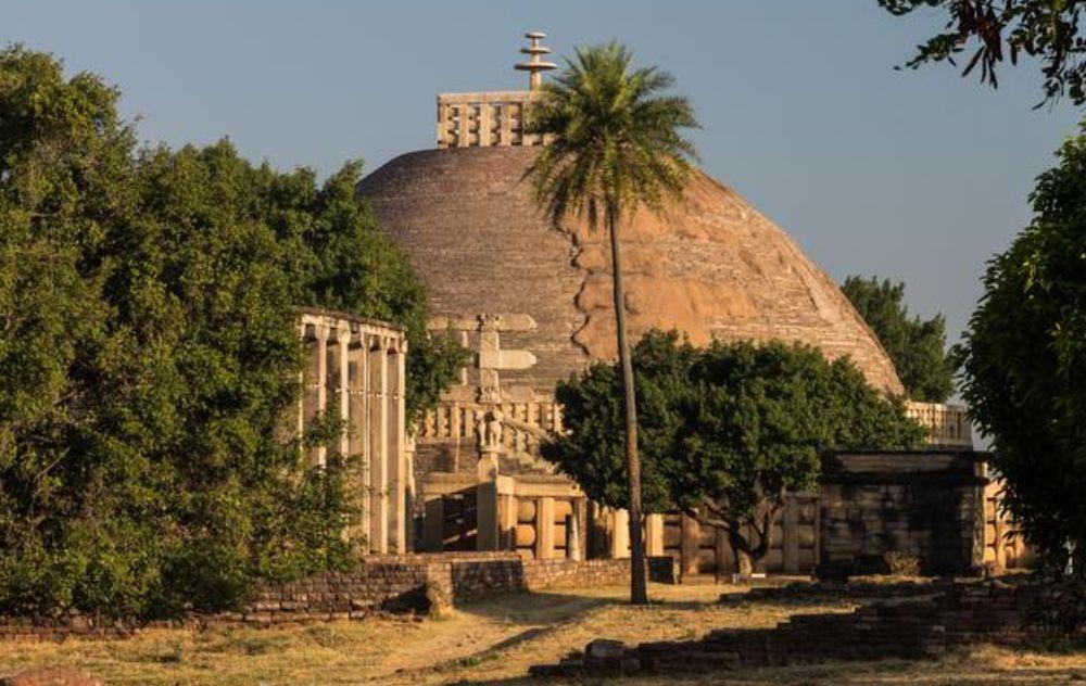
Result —
[[909, 317], [905, 283], [881, 283], [850, 276], [841, 287], [894, 361], [905, 393], [913, 401], [944, 403], [954, 392], [954, 368], [946, 355], [946, 320]]

